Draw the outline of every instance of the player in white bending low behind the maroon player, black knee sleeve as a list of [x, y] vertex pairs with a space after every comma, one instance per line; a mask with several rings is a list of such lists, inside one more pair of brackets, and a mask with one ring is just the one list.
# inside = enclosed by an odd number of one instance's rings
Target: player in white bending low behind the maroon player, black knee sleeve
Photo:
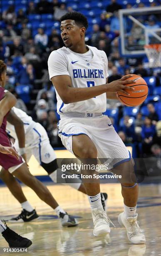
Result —
[[[24, 111], [13, 107], [7, 115], [6, 131], [15, 139], [14, 147], [26, 162], [28, 163], [33, 154], [50, 178], [57, 182], [57, 172], [60, 172], [60, 170], [57, 170], [56, 155], [50, 145], [45, 128], [40, 123], [34, 122]], [[37, 214], [35, 214], [32, 216], [32, 219], [26, 219], [25, 215], [31, 215], [34, 209], [27, 201], [20, 183], [17, 182], [15, 177], [8, 170], [2, 169], [0, 178], [22, 206], [22, 212], [17, 217], [12, 218], [10, 222], [29, 221], [37, 218]], [[77, 179], [75, 183], [67, 184], [86, 194], [84, 185], [81, 182], [80, 179]], [[107, 193], [101, 193], [101, 197], [102, 205], [104, 210], [106, 210]], [[57, 206], [57, 209], [59, 209], [59, 206]]]

